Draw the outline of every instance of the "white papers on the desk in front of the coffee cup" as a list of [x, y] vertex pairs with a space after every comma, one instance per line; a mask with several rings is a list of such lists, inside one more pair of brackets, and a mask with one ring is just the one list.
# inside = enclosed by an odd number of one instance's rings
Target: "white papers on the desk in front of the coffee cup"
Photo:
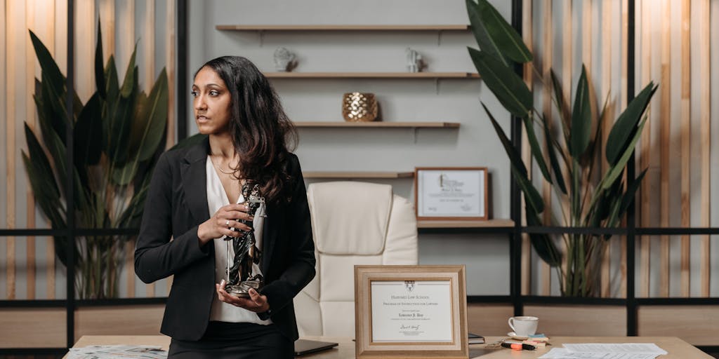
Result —
[[667, 354], [654, 343], [622, 344], [564, 344], [564, 348], [552, 348], [540, 359], [654, 359]]

